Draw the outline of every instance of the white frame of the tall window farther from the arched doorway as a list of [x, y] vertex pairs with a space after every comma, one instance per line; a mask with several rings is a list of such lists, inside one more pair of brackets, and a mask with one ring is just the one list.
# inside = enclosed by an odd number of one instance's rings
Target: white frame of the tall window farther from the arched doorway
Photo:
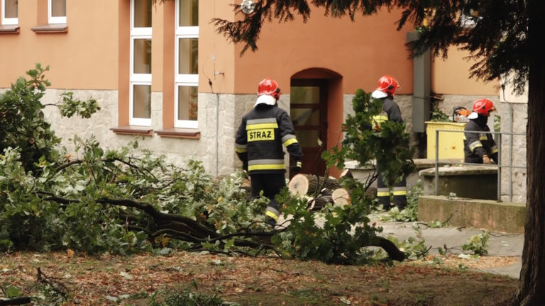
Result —
[[[131, 69], [129, 74], [129, 90], [128, 90], [128, 124], [129, 125], [141, 125], [151, 126], [151, 118], [136, 118], [134, 114], [134, 86], [135, 85], [148, 85], [151, 86], [151, 74], [136, 74], [134, 73], [134, 42], [135, 40], [145, 39], [151, 40], [152, 28], [135, 28], [134, 27], [134, 0], [131, 0], [131, 47], [130, 47], [130, 61], [129, 65]], [[150, 96], [151, 100], [151, 96]], [[150, 101], [151, 103], [151, 101]], [[151, 114], [150, 114], [151, 117]]]

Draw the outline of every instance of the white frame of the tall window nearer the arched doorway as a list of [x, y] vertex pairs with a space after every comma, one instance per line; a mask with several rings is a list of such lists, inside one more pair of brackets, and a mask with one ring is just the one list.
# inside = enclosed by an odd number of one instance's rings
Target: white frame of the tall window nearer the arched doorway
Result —
[[[175, 128], [199, 128], [197, 120], [178, 120], [179, 105], [178, 102], [178, 87], [179, 86], [199, 86], [199, 74], [180, 74], [180, 38], [197, 38], [199, 39], [199, 26], [179, 26], [180, 25], [180, 0], [176, 0], [176, 18], [175, 18], [175, 77], [174, 77], [174, 126]], [[197, 102], [197, 109], [198, 109]]]

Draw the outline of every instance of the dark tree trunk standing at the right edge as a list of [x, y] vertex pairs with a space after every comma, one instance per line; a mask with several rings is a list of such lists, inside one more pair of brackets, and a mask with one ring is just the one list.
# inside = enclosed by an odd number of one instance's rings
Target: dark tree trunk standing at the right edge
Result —
[[545, 1], [527, 2], [529, 16], [528, 125], [527, 125], [527, 212], [519, 288], [513, 305], [545, 305]]

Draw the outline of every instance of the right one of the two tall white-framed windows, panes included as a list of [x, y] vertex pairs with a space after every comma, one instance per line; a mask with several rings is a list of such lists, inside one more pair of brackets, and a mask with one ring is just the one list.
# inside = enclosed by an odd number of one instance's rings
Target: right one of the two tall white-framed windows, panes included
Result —
[[199, 1], [176, 1], [175, 128], [197, 128]]

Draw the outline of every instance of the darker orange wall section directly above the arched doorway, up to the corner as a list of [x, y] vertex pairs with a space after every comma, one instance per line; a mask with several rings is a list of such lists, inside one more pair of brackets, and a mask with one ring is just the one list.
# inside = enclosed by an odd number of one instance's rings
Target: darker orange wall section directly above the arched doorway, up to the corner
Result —
[[[353, 94], [358, 88], [375, 89], [383, 74], [397, 77], [403, 85], [400, 94], [410, 94], [412, 60], [404, 42], [412, 28], [397, 31], [398, 18], [395, 12], [381, 13], [360, 16], [352, 22], [348, 17], [324, 16], [323, 9], [313, 8], [307, 23], [300, 17], [288, 23], [266, 23], [259, 50], [236, 58], [236, 91], [255, 92], [263, 77], [276, 79], [287, 88], [292, 74], [319, 67], [341, 74], [345, 94]], [[237, 52], [241, 48], [238, 45]]]

